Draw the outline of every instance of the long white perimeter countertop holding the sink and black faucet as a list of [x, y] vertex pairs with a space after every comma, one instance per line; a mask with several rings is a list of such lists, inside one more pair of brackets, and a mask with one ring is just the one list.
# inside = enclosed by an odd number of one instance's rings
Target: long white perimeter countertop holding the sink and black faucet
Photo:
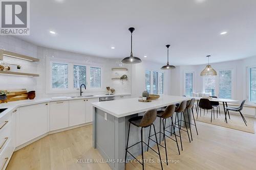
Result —
[[0, 113], [0, 118], [5, 116], [6, 113], [8, 113], [9, 111], [14, 110], [18, 107], [22, 107], [22, 106], [28, 106], [28, 105], [34, 105], [34, 104], [40, 104], [40, 103], [46, 103], [46, 102], [70, 101], [70, 100], [79, 100], [79, 99], [93, 99], [93, 98], [102, 98], [102, 97], [108, 97], [108, 96], [121, 96], [121, 95], [131, 95], [131, 94], [110, 94], [110, 95], [102, 94], [102, 95], [93, 95], [93, 96], [82, 96], [79, 98], [71, 98], [71, 97], [60, 98], [60, 99], [46, 98], [46, 99], [22, 100], [22, 101], [1, 103], [0, 108], [8, 108], [8, 109], [6, 109], [2, 113]]

